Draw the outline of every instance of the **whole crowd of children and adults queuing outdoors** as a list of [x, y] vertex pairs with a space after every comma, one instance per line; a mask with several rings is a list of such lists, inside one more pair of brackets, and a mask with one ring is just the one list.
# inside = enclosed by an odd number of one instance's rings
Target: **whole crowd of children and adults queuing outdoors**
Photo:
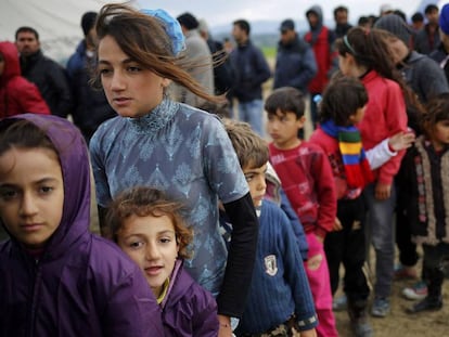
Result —
[[449, 4], [348, 14], [283, 20], [273, 68], [245, 18], [228, 48], [118, 3], [66, 66], [33, 27], [0, 42], [0, 335], [334, 337], [345, 307], [370, 337], [397, 278], [441, 309]]

